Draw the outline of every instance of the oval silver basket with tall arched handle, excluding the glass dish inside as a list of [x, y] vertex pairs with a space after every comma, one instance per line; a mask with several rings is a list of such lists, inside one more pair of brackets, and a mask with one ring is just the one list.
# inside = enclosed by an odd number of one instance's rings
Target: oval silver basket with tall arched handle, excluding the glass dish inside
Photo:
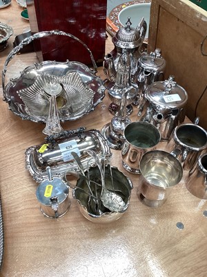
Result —
[[[34, 39], [40, 39], [41, 37], [47, 37], [50, 35], [63, 35], [67, 37], [72, 37], [72, 39], [77, 40], [83, 46], [86, 47], [90, 54], [90, 58], [92, 61], [92, 69], [89, 69], [88, 66], [85, 64], [82, 64], [81, 62], [56, 62], [56, 61], [45, 61], [41, 63], [34, 63], [31, 66], [28, 66], [26, 69], [24, 69], [18, 78], [10, 79], [10, 82], [8, 84], [5, 84], [6, 79], [6, 71], [7, 66], [14, 58], [14, 55], [19, 53], [19, 50], [23, 48], [23, 46], [29, 44]], [[77, 73], [81, 77], [81, 84], [84, 87], [87, 87], [89, 91], [93, 91], [93, 99], [92, 99], [92, 105], [90, 105], [90, 109], [88, 109], [88, 103], [87, 107], [83, 107], [81, 111], [79, 111], [77, 114], [73, 114], [71, 116], [71, 113], [62, 113], [62, 116], [60, 117], [60, 120], [62, 122], [66, 120], [76, 120], [79, 119], [81, 116], [88, 114], [90, 111], [93, 111], [96, 107], [96, 105], [101, 102], [103, 97], [105, 96], [104, 91], [105, 87], [103, 86], [103, 80], [99, 78], [97, 75], [97, 65], [95, 63], [94, 57], [92, 56], [92, 53], [88, 46], [84, 44], [80, 39], [75, 37], [74, 35], [71, 35], [69, 33], [65, 33], [60, 30], [51, 30], [46, 32], [40, 32], [36, 33], [30, 37], [27, 37], [26, 39], [23, 39], [21, 44], [16, 46], [8, 55], [6, 62], [3, 67], [2, 71], [2, 87], [3, 87], [3, 100], [8, 102], [9, 109], [17, 116], [20, 116], [23, 120], [32, 120], [34, 122], [43, 122], [46, 123], [46, 116], [45, 111], [43, 111], [43, 114], [41, 116], [37, 116], [37, 114], [31, 114], [31, 110], [28, 111], [28, 107], [26, 102], [24, 102], [21, 97], [19, 96], [20, 91], [26, 92], [26, 89], [29, 89], [32, 85], [35, 86], [35, 82], [37, 79], [41, 78], [43, 74], [50, 75], [51, 78], [55, 79], [61, 79], [61, 80], [67, 80], [67, 75], [70, 75], [71, 73]], [[70, 77], [68, 77], [68, 80], [70, 80]], [[80, 82], [78, 81], [80, 84]], [[37, 83], [36, 83], [37, 84]], [[65, 86], [69, 86], [71, 84], [65, 84]], [[80, 85], [78, 85], [80, 87]], [[71, 87], [71, 86], [70, 86]], [[77, 89], [77, 83], [74, 82], [73, 89]], [[17, 93], [19, 91], [19, 94]], [[34, 91], [33, 91], [34, 92]], [[34, 94], [34, 93], [33, 93]], [[86, 97], [87, 98], [87, 97]], [[32, 105], [30, 105], [32, 107]]]

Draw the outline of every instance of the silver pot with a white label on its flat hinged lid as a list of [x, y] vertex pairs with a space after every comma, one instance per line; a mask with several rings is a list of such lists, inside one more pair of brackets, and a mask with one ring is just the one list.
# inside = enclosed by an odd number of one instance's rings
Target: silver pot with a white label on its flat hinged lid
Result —
[[172, 130], [185, 119], [188, 101], [186, 90], [170, 75], [168, 80], [148, 86], [146, 100], [147, 108], [141, 121], [155, 125], [161, 133], [161, 140], [168, 140]]

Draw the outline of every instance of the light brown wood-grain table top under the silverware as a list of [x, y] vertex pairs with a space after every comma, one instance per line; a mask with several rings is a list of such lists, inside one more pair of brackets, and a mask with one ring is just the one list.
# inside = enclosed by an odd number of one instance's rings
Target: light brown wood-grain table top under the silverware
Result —
[[[16, 1], [0, 10], [3, 23], [14, 29], [9, 46], [0, 53], [0, 69], [12, 50], [14, 36], [29, 27], [20, 17]], [[110, 38], [106, 52], [112, 50]], [[8, 76], [35, 61], [35, 54], [17, 55], [8, 68]], [[103, 68], [98, 75], [104, 78]], [[2, 87], [0, 84], [2, 98]], [[63, 123], [64, 129], [85, 126], [101, 129], [110, 122], [110, 100], [106, 97], [87, 116]], [[130, 119], [137, 120], [136, 109]], [[121, 166], [121, 153], [112, 150], [112, 165], [128, 175], [133, 183], [130, 206], [116, 222], [95, 224], [79, 212], [75, 199], [59, 220], [44, 217], [36, 198], [37, 184], [25, 168], [26, 148], [43, 143], [43, 125], [21, 120], [0, 101], [0, 186], [3, 208], [5, 249], [1, 276], [70, 277], [175, 277], [206, 276], [207, 202], [191, 195], [185, 178], [173, 188], [160, 208], [139, 202], [139, 176], [130, 175]], [[184, 229], [177, 228], [177, 222]]]

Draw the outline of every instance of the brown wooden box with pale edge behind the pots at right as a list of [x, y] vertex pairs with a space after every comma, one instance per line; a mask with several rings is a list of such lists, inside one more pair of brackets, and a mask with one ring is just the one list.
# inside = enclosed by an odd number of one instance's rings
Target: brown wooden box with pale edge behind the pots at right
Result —
[[[187, 116], [207, 129], [207, 12], [189, 0], [152, 0], [148, 52], [161, 48], [165, 78], [188, 93]], [[201, 53], [201, 43], [204, 42]]]

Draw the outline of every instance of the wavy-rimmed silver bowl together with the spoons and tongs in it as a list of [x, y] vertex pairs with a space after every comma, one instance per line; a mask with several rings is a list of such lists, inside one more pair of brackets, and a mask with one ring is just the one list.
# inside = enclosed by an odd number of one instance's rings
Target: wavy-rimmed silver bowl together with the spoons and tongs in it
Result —
[[[88, 151], [88, 154], [94, 161], [93, 166], [80, 174], [68, 172], [66, 175], [67, 180], [70, 175], [79, 177], [76, 186], [72, 186], [72, 196], [77, 199], [81, 214], [91, 222], [105, 224], [118, 220], [128, 209], [132, 182], [118, 168], [110, 166], [110, 157], [103, 156], [100, 162], [95, 152]], [[77, 157], [75, 160], [79, 163]]]

